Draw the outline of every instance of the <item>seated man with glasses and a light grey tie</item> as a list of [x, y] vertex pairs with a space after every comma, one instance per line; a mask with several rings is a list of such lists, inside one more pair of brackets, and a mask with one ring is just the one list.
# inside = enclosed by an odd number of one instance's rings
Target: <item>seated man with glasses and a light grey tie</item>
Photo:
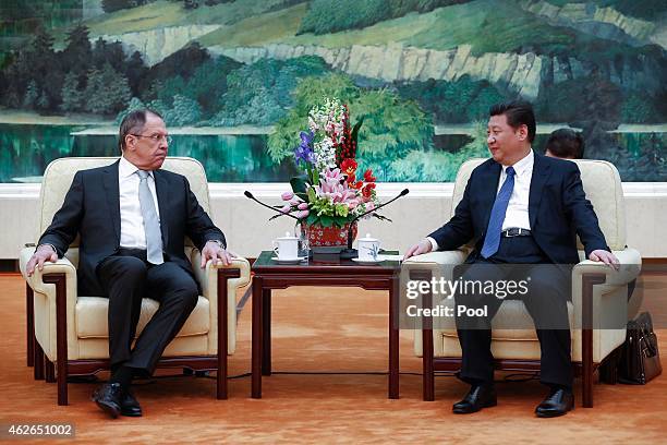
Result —
[[[160, 170], [170, 139], [157, 112], [129, 113], [120, 125], [121, 158], [76, 172], [27, 264], [28, 275], [41, 270], [81, 236], [78, 292], [109, 299], [111, 377], [93, 399], [113, 418], [142, 416], [132, 378], [153, 374], [197, 304], [185, 237], [201, 250], [202, 267], [209, 260], [228, 265], [233, 256], [185, 177]], [[160, 306], [132, 348], [144, 297]]]

